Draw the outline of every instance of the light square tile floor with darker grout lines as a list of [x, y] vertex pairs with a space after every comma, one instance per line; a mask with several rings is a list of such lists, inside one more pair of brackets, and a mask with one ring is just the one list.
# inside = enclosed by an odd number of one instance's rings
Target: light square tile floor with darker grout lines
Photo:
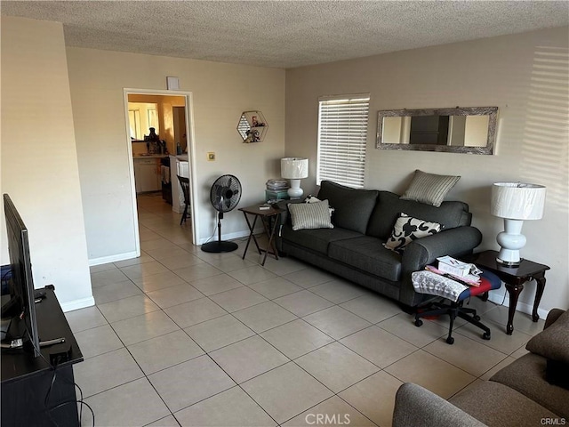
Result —
[[66, 314], [99, 426], [385, 427], [402, 383], [450, 398], [543, 327], [517, 313], [506, 335], [507, 309], [476, 300], [492, 340], [459, 320], [448, 345], [447, 318], [415, 327], [395, 302], [298, 260], [242, 260], [244, 240], [202, 252], [161, 197], [140, 197], [139, 217], [142, 256], [92, 267], [96, 306]]

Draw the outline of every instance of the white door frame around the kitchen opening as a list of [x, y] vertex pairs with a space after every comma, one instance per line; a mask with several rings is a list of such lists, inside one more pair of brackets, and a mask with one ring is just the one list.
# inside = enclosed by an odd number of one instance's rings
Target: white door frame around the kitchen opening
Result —
[[[135, 247], [136, 254], [140, 256], [140, 234], [139, 234], [139, 217], [138, 217], [138, 206], [136, 202], [136, 186], [134, 181], [134, 161], [132, 159], [132, 142], [131, 133], [129, 128], [129, 117], [128, 117], [128, 95], [129, 94], [139, 94], [139, 95], [164, 95], [164, 96], [183, 96], [186, 100], [186, 131], [187, 131], [187, 141], [188, 141], [188, 162], [189, 162], [189, 197], [191, 199], [190, 205], [190, 220], [192, 222], [192, 244], [197, 245], [199, 242], [198, 230], [199, 229], [199, 206], [196, 205], [196, 182], [197, 182], [197, 172], [196, 172], [196, 138], [194, 133], [194, 104], [192, 100], [191, 92], [183, 91], [165, 91], [165, 90], [153, 90], [153, 89], [134, 89], [134, 88], [124, 88], [123, 98], [124, 98], [124, 134], [126, 136], [128, 157], [129, 157], [129, 173], [131, 177], [131, 196], [132, 196], [132, 223], [134, 224], [134, 234], [135, 234]], [[177, 182], [176, 182], [177, 183]], [[172, 182], [172, 185], [174, 182]]]

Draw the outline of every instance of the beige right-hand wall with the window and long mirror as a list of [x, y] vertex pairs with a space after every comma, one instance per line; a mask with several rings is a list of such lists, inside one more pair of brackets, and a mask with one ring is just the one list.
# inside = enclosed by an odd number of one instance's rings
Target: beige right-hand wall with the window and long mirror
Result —
[[[501, 220], [489, 213], [495, 181], [548, 187], [545, 217], [525, 222], [525, 258], [551, 270], [541, 309], [569, 308], [568, 28], [486, 38], [286, 71], [286, 156], [309, 157], [307, 192], [316, 191], [317, 99], [371, 93], [365, 186], [405, 190], [419, 168], [461, 175], [449, 194], [469, 203], [484, 234], [479, 249], [497, 249]], [[498, 106], [494, 156], [375, 149], [377, 111]], [[534, 284], [520, 301], [531, 304]], [[501, 302], [504, 288], [494, 294]], [[507, 302], [506, 302], [507, 303]], [[519, 304], [518, 308], [527, 310]], [[543, 311], [541, 311], [543, 313]]]

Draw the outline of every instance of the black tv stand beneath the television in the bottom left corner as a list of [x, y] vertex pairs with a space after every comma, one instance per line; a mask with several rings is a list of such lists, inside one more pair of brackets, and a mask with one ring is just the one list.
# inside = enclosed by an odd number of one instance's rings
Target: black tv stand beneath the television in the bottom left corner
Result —
[[[60, 338], [42, 342], [43, 357], [38, 358], [33, 352], [3, 349], [2, 425], [79, 425], [73, 365], [83, 361], [83, 354], [53, 289], [43, 290], [44, 299], [36, 304], [39, 335]], [[14, 318], [8, 334], [22, 336], [20, 326]]]

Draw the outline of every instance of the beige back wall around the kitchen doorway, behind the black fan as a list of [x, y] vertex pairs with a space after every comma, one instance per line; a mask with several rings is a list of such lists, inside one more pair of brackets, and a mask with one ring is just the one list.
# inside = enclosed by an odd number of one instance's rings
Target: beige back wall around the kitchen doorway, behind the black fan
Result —
[[[264, 200], [265, 182], [280, 174], [284, 155], [284, 70], [203, 60], [69, 47], [68, 72], [75, 120], [79, 177], [91, 262], [131, 256], [135, 249], [128, 135], [123, 89], [165, 90], [166, 77], [180, 77], [180, 91], [193, 94], [198, 181], [196, 208], [204, 240], [212, 236], [212, 182], [236, 175], [240, 205]], [[236, 126], [244, 110], [260, 109], [268, 122], [265, 141], [243, 144]], [[94, 130], [94, 132], [93, 132]], [[207, 161], [207, 152], [216, 161]], [[224, 238], [245, 236], [243, 214], [223, 220]]]

